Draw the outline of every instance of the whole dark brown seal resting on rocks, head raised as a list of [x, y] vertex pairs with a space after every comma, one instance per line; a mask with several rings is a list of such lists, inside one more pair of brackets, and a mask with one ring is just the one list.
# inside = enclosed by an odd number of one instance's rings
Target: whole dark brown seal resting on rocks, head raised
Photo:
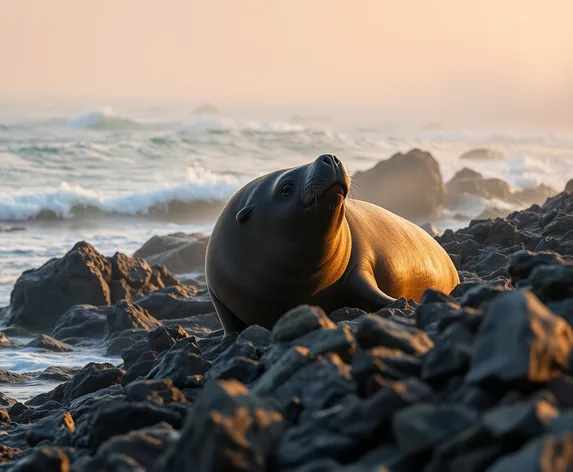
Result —
[[376, 311], [399, 297], [459, 283], [446, 251], [419, 226], [347, 198], [332, 154], [272, 172], [225, 205], [207, 244], [207, 288], [225, 333], [272, 328], [289, 309]]

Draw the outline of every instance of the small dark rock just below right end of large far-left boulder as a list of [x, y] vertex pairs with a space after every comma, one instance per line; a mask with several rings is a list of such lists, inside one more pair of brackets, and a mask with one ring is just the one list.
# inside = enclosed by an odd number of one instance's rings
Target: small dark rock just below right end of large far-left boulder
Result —
[[73, 306], [58, 319], [51, 335], [60, 341], [101, 338], [107, 329], [107, 313], [111, 309], [92, 305]]

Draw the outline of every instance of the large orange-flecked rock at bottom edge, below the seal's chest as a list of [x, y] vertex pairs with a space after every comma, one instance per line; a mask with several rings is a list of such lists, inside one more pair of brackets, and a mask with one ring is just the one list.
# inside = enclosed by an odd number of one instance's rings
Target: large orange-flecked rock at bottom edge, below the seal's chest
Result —
[[269, 469], [284, 432], [281, 413], [240, 382], [210, 382], [193, 405], [181, 436], [158, 471]]

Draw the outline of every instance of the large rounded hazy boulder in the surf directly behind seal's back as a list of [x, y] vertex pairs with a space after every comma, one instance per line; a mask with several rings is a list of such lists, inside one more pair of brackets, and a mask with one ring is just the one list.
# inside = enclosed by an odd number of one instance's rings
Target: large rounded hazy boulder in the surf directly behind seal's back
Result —
[[356, 172], [354, 197], [374, 203], [406, 218], [436, 214], [445, 200], [440, 166], [419, 149], [397, 153], [372, 169]]

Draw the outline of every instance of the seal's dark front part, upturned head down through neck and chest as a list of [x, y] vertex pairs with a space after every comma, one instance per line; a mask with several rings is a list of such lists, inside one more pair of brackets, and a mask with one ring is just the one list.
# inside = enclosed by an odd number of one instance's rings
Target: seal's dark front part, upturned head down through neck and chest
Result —
[[310, 303], [342, 277], [351, 253], [349, 187], [342, 162], [324, 154], [263, 175], [229, 200], [205, 258], [226, 331], [236, 328], [235, 318], [271, 327], [293, 300]]

